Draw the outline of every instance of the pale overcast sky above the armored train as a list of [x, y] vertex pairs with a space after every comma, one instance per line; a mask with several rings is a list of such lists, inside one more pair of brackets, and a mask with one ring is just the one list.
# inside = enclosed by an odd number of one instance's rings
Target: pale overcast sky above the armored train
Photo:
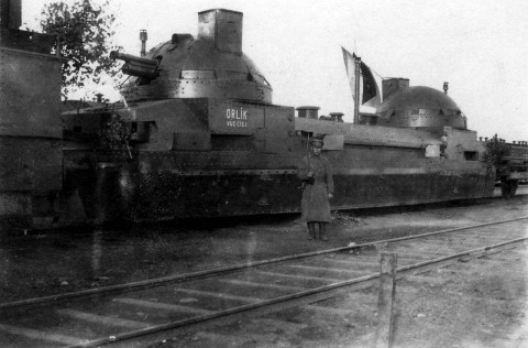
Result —
[[[23, 0], [23, 20], [45, 0]], [[97, 1], [96, 1], [97, 2]], [[198, 12], [240, 11], [243, 50], [266, 76], [276, 105], [315, 105], [353, 118], [341, 46], [378, 77], [442, 89], [479, 135], [528, 141], [528, 1], [491, 0], [112, 0], [116, 42], [139, 55], [173, 33], [196, 36]], [[111, 90], [105, 89], [107, 96]]]

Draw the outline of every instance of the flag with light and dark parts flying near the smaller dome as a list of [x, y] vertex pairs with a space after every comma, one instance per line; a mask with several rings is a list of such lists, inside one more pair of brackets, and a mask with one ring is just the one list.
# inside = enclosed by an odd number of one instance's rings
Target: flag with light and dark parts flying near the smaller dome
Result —
[[[343, 50], [344, 66], [349, 76], [350, 88], [352, 89], [352, 98], [355, 100], [355, 59], [358, 56], [343, 47], [341, 50]], [[373, 108], [377, 108], [381, 104], [376, 80], [369, 66], [363, 62], [360, 64], [360, 100], [361, 105]]]

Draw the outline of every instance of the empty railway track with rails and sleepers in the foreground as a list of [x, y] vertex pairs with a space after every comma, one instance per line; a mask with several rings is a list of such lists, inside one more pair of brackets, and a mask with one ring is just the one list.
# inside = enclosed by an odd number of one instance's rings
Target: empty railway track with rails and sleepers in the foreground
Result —
[[398, 255], [397, 274], [438, 269], [527, 241], [528, 217], [420, 236], [0, 304], [2, 347], [142, 347], [153, 339], [253, 317], [376, 285], [378, 254]]

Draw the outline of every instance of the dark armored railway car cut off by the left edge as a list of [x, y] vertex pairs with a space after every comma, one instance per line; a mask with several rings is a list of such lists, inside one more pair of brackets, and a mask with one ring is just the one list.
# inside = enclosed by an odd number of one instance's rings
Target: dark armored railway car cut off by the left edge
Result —
[[54, 209], [63, 186], [62, 58], [55, 37], [19, 30], [21, 1], [0, 1], [0, 231]]

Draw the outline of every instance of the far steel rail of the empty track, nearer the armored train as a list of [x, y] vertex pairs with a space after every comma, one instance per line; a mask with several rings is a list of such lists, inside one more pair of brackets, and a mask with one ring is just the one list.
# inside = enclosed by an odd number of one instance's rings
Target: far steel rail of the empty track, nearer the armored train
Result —
[[400, 238], [384, 239], [384, 240], [372, 241], [372, 242], [366, 242], [366, 243], [355, 244], [355, 246], [348, 246], [348, 247], [339, 247], [339, 248], [332, 248], [332, 249], [310, 251], [310, 252], [305, 252], [305, 253], [299, 253], [299, 254], [294, 254], [294, 255], [270, 259], [270, 260], [239, 263], [239, 264], [234, 264], [234, 265], [216, 268], [216, 269], [211, 269], [211, 270], [204, 270], [204, 271], [185, 273], [185, 274], [156, 278], [156, 279], [153, 279], [153, 280], [145, 280], [145, 281], [131, 282], [131, 283], [125, 283], [125, 284], [118, 284], [118, 285], [110, 285], [110, 286], [105, 286], [105, 287], [82, 290], [82, 291], [78, 291], [78, 292], [70, 292], [70, 293], [56, 294], [56, 295], [50, 295], [50, 296], [43, 296], [43, 297], [21, 300], [21, 301], [15, 301], [15, 302], [1, 303], [0, 304], [0, 309], [14, 308], [14, 307], [20, 307], [20, 306], [37, 305], [37, 304], [44, 304], [44, 303], [47, 303], [47, 302], [66, 301], [66, 300], [73, 300], [73, 298], [78, 298], [78, 297], [85, 297], [85, 296], [88, 297], [88, 296], [95, 296], [95, 295], [100, 295], [100, 294], [103, 294], [103, 293], [111, 293], [111, 292], [118, 292], [118, 291], [131, 291], [131, 290], [136, 290], [136, 289], [146, 289], [146, 287], [152, 287], [152, 286], [156, 286], [156, 285], [161, 285], [161, 284], [165, 284], [165, 283], [172, 283], [172, 282], [176, 283], [176, 282], [188, 281], [188, 280], [191, 280], [191, 279], [202, 279], [202, 278], [213, 276], [213, 275], [218, 275], [218, 274], [222, 274], [222, 273], [229, 273], [229, 272], [233, 272], [233, 271], [240, 271], [240, 270], [255, 268], [255, 267], [265, 265], [265, 264], [272, 264], [272, 263], [284, 262], [284, 261], [289, 261], [289, 260], [297, 260], [297, 259], [305, 259], [305, 258], [310, 258], [310, 257], [316, 257], [316, 255], [321, 255], [321, 254], [327, 254], [327, 253], [333, 253], [333, 252], [340, 252], [340, 251], [348, 251], [348, 250], [353, 250], [353, 249], [375, 247], [377, 244], [388, 243], [388, 242], [397, 242], [397, 241], [402, 241], [402, 240], [410, 240], [410, 239], [424, 238], [424, 237], [429, 237], [429, 236], [437, 236], [437, 235], [442, 235], [442, 233], [451, 233], [451, 232], [463, 231], [463, 230], [469, 230], [469, 229], [474, 229], [474, 228], [480, 228], [480, 227], [514, 222], [514, 221], [524, 220], [524, 219], [528, 219], [528, 216], [522, 216], [522, 217], [518, 217], [518, 218], [514, 218], [514, 219], [505, 219], [505, 220], [485, 222], [485, 224], [470, 225], [470, 226], [464, 226], [464, 227], [457, 227], [457, 228], [444, 229], [444, 230], [439, 230], [439, 231], [433, 231], [433, 232], [427, 232], [427, 233], [422, 233], [422, 235], [414, 235], [414, 236], [407, 236], [407, 237], [400, 237]]

